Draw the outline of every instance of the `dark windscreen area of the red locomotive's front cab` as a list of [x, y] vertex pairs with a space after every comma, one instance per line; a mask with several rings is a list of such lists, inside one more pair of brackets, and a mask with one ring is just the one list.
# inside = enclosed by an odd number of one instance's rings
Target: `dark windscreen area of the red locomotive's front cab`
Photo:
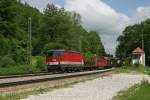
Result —
[[63, 51], [57, 51], [57, 50], [49, 50], [47, 51], [47, 57], [48, 58], [58, 58], [63, 56]]

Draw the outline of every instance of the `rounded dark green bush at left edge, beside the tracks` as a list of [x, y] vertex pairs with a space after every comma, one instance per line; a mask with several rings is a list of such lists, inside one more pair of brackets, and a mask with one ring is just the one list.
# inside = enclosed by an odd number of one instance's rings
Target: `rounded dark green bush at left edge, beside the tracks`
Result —
[[16, 62], [11, 58], [11, 56], [6, 55], [0, 57], [0, 67], [8, 67], [14, 65], [16, 65]]

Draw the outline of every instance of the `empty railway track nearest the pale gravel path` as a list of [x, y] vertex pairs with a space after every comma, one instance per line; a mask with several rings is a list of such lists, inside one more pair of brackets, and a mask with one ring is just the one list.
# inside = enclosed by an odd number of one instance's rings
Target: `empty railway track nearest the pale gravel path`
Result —
[[3, 76], [0, 77], [0, 88], [19, 86], [26, 84], [33, 84], [38, 82], [59, 80], [65, 78], [72, 78], [78, 76], [86, 76], [92, 74], [99, 74], [112, 71], [111, 69], [87, 71], [87, 72], [76, 72], [76, 73], [64, 73], [64, 74], [51, 74], [51, 73], [41, 73], [41, 74], [30, 74], [30, 75], [17, 75], [17, 76]]

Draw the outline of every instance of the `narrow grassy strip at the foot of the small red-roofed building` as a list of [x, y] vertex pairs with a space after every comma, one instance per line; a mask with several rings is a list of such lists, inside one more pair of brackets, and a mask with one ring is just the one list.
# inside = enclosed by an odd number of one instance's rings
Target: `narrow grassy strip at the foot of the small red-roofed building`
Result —
[[144, 66], [124, 66], [119, 67], [115, 69], [116, 73], [130, 73], [130, 72], [136, 72], [136, 73], [143, 73], [143, 74], [150, 74], [150, 67], [144, 67]]

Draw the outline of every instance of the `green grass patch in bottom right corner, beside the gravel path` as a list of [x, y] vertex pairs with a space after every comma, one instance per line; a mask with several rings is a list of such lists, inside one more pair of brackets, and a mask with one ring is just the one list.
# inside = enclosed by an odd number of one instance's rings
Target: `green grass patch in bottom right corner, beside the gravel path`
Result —
[[128, 90], [121, 91], [113, 100], [150, 100], [150, 83], [143, 81]]

